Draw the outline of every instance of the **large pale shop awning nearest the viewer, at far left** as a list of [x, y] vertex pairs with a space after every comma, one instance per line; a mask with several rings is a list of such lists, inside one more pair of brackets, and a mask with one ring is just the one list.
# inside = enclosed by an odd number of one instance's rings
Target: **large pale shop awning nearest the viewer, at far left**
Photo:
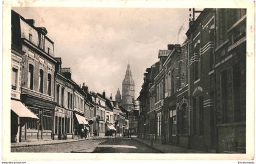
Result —
[[29, 111], [29, 109], [27, 109], [26, 106], [24, 106], [24, 104], [21, 103], [21, 101], [11, 100], [11, 109], [13, 112], [15, 112], [16, 115], [18, 115], [18, 117], [39, 119], [37, 115]]

